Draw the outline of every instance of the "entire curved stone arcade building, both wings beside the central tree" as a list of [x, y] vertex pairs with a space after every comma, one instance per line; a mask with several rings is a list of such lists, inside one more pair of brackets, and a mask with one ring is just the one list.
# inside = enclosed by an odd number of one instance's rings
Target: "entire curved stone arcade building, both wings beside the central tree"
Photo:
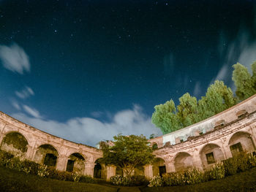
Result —
[[[210, 169], [236, 153], [255, 152], [256, 95], [211, 118], [170, 134], [150, 139], [155, 148], [153, 164], [138, 167], [134, 174], [151, 178], [165, 172], [197, 167]], [[0, 112], [1, 150], [39, 164], [68, 172], [109, 178], [122, 174], [116, 166], [99, 163], [102, 151], [39, 131]]]

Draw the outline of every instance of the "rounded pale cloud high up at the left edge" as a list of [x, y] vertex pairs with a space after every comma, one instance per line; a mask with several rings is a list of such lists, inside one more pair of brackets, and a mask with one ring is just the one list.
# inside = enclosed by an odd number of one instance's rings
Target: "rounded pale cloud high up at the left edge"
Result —
[[0, 59], [3, 66], [12, 72], [23, 74], [30, 71], [29, 56], [15, 43], [10, 47], [0, 45]]

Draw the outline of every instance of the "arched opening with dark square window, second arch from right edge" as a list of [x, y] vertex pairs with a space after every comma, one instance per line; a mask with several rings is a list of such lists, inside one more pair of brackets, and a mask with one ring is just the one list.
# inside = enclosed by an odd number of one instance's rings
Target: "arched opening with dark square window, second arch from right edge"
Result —
[[208, 144], [200, 152], [203, 169], [210, 169], [214, 164], [224, 160], [221, 148], [215, 144]]

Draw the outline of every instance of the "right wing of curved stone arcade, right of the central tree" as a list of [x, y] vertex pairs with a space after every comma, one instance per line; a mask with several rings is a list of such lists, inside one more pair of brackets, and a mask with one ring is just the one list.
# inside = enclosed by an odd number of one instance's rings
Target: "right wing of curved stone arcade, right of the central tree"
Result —
[[[256, 150], [256, 95], [211, 118], [149, 142], [151, 145], [158, 142], [159, 148], [154, 150], [154, 154], [165, 161], [167, 172], [190, 166], [210, 169], [214, 164], [232, 157], [234, 145], [235, 152], [241, 149], [253, 152]], [[237, 147], [239, 145], [241, 149]], [[145, 174], [152, 175], [154, 172], [147, 166]]]

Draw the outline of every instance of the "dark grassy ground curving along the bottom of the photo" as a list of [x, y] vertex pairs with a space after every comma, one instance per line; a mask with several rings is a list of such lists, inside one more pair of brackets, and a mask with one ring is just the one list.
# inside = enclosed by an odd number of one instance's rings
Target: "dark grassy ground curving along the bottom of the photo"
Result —
[[193, 191], [256, 191], [256, 167], [239, 174], [235, 174], [230, 177], [226, 177], [222, 180], [212, 180], [206, 183], [199, 183], [195, 185], [185, 186], [173, 186], [173, 187], [161, 187], [161, 188], [129, 188], [129, 187], [116, 187], [99, 181], [99, 184], [90, 183], [75, 183], [69, 181], [51, 180], [48, 178], [42, 178], [15, 170], [5, 169], [0, 167], [0, 191], [89, 191], [89, 192], [193, 192]]

